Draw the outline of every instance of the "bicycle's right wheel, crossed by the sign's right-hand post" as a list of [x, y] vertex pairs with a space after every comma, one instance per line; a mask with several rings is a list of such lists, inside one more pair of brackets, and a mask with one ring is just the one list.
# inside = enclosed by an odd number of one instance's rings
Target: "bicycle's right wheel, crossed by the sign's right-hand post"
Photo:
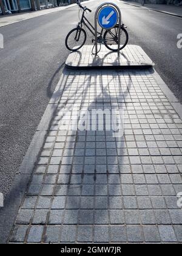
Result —
[[[119, 26], [116, 25], [113, 29], [106, 30], [104, 33], [104, 44], [110, 51], [118, 51], [118, 32]], [[121, 36], [120, 36], [120, 51], [126, 46], [129, 40], [129, 35], [126, 29], [121, 26]]]

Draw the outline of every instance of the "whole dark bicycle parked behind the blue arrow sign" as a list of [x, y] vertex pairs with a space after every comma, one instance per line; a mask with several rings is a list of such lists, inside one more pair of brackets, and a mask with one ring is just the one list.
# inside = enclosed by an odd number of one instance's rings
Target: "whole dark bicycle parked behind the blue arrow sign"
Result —
[[[87, 40], [87, 33], [86, 30], [83, 29], [83, 25], [89, 29], [92, 35], [95, 37], [95, 28], [92, 24], [87, 20], [85, 13], [92, 12], [92, 10], [88, 9], [87, 7], [83, 7], [81, 5], [80, 0], [76, 0], [76, 4], [78, 4], [79, 8], [83, 10], [83, 14], [81, 16], [81, 21], [78, 23], [78, 26], [75, 29], [72, 29], [66, 37], [66, 47], [69, 51], [78, 51], [81, 49]], [[98, 43], [103, 43], [107, 49], [110, 51], [118, 51], [116, 47], [113, 47], [115, 44], [118, 44], [118, 30], [119, 25], [116, 24], [115, 27], [112, 29], [106, 30], [101, 29], [101, 32], [97, 31]], [[123, 49], [129, 40], [129, 35], [126, 30], [126, 26], [124, 24], [121, 25], [121, 39], [120, 39], [120, 50]], [[92, 40], [92, 43], [95, 40]], [[76, 45], [75, 45], [76, 44]], [[94, 47], [94, 46], [93, 46]]]

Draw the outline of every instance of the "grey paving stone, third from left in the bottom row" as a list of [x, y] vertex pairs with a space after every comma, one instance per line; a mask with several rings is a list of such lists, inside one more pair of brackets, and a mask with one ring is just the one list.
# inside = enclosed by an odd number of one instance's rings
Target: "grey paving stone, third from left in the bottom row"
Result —
[[60, 232], [60, 227], [47, 226], [44, 235], [44, 243], [58, 243]]

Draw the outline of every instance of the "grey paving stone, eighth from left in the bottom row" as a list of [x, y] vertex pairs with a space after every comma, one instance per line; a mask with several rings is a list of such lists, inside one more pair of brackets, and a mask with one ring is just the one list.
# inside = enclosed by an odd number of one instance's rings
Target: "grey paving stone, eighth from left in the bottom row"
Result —
[[144, 241], [143, 230], [141, 226], [127, 226], [127, 236], [129, 242], [139, 243]]

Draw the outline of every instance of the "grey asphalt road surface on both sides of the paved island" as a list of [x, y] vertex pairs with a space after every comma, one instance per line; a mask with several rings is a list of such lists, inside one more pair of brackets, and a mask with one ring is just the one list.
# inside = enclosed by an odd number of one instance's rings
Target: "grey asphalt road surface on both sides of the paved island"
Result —
[[[103, 0], [88, 2], [93, 21]], [[130, 44], [140, 45], [158, 73], [182, 102], [182, 49], [177, 35], [182, 19], [116, 2], [128, 26]], [[8, 193], [36, 127], [47, 107], [69, 51], [64, 39], [78, 22], [78, 7], [1, 27], [0, 191]], [[87, 43], [91, 44], [92, 37]]]

